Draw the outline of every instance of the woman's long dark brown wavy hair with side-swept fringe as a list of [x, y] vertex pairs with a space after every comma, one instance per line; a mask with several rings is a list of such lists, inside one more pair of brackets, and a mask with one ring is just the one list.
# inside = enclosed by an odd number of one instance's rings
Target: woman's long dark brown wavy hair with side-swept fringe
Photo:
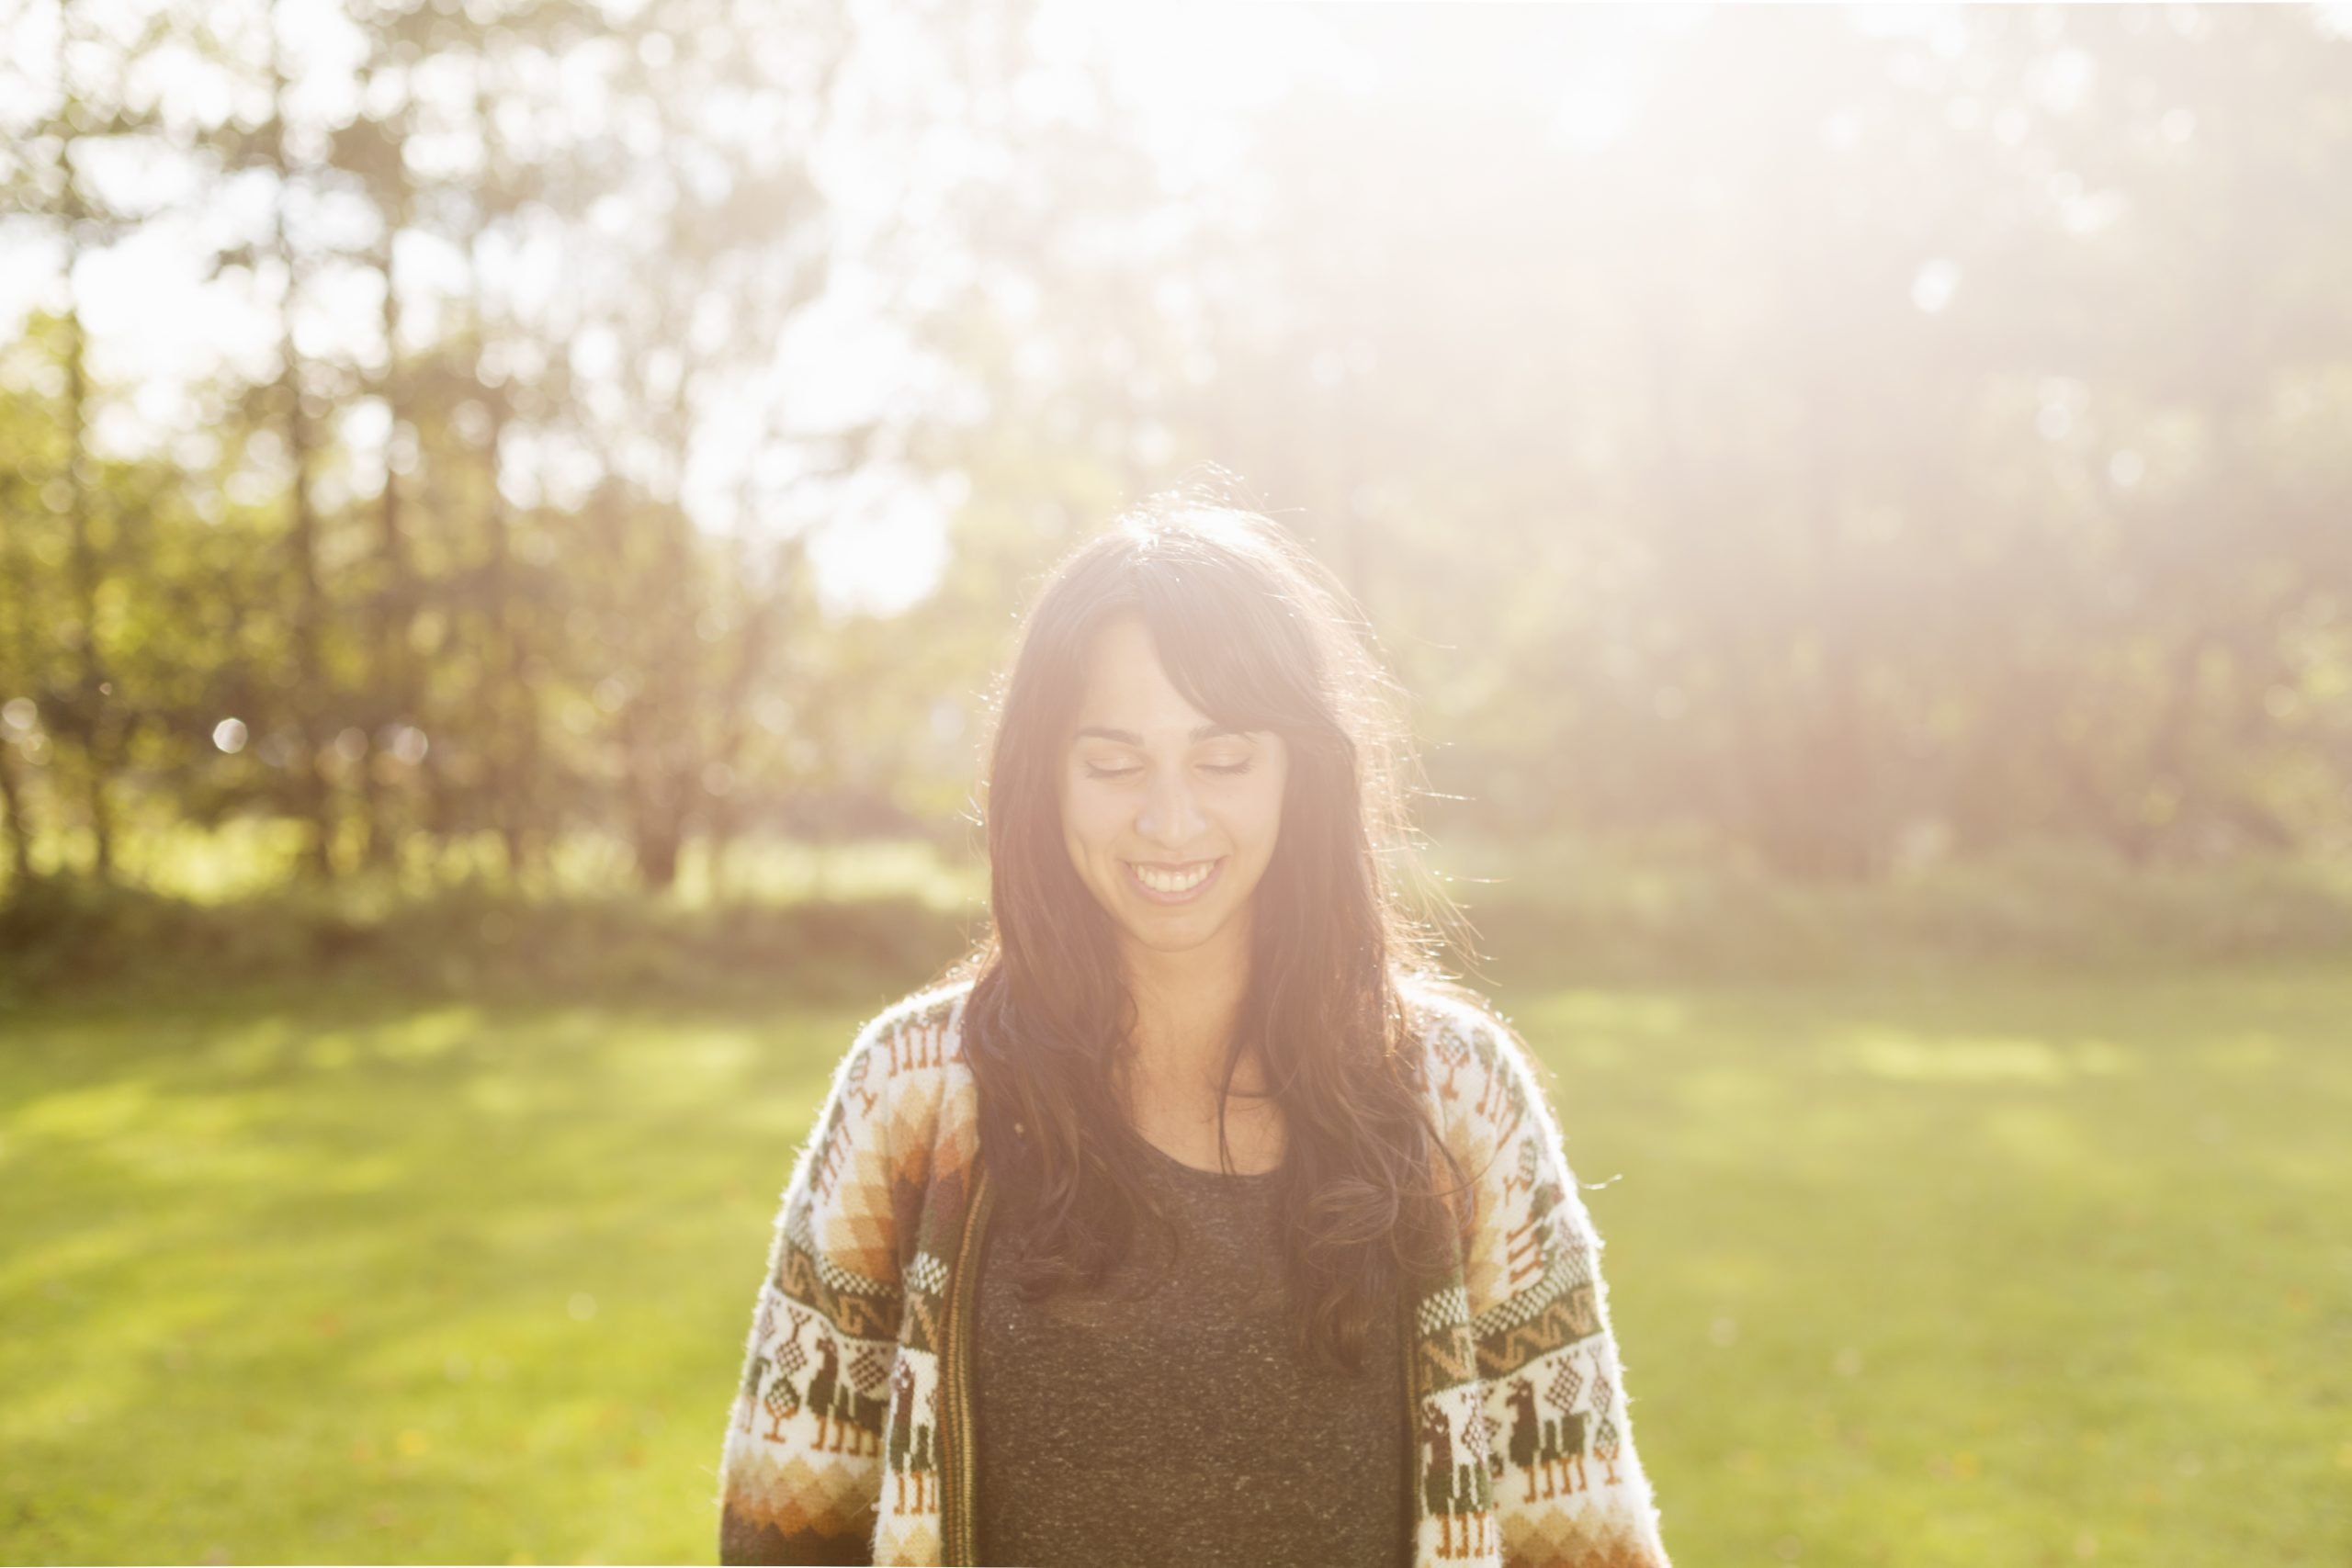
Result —
[[[1138, 1220], [1174, 1237], [1117, 1091], [1134, 1001], [1115, 929], [1061, 830], [1061, 736], [1094, 637], [1117, 616], [1143, 621], [1185, 701], [1289, 748], [1223, 1093], [1256, 1046], [1284, 1124], [1275, 1201], [1291, 1335], [1303, 1354], [1352, 1368], [1371, 1314], [1435, 1276], [1465, 1222], [1465, 1182], [1430, 1124], [1399, 994], [1406, 973], [1435, 978], [1437, 950], [1437, 926], [1406, 912], [1399, 886], [1409, 750], [1395, 686], [1338, 581], [1275, 522], [1192, 494], [1124, 515], [1051, 574], [995, 710], [993, 931], [960, 969], [974, 980], [964, 1051], [981, 1147], [1021, 1232], [1018, 1279], [1033, 1298], [1101, 1286]], [[1223, 1117], [1218, 1154], [1230, 1166]]]

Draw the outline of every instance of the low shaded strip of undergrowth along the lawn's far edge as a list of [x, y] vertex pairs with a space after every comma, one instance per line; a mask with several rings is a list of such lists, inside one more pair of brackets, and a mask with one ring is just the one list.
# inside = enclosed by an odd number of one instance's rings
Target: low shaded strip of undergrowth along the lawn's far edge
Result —
[[[2025, 846], [1884, 884], [1797, 884], [1689, 853], [1635, 863], [1569, 844], [1489, 846], [1449, 882], [1496, 983], [1764, 980], [1950, 969], [2117, 971], [2338, 959], [2352, 875], [2288, 860], [2133, 867]], [[971, 905], [866, 891], [715, 903], [524, 898], [482, 884], [369, 886], [193, 903], [33, 882], [0, 903], [0, 999], [106, 987], [348, 983], [414, 994], [873, 997], [934, 976], [981, 933]]]

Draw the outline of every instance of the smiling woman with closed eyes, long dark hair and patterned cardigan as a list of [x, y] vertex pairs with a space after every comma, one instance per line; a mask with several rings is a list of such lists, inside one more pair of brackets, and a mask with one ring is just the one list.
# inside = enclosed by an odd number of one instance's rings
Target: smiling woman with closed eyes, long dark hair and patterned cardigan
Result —
[[1183, 501], [1047, 585], [993, 936], [793, 1171], [724, 1561], [1665, 1563], [1543, 1088], [1397, 910], [1357, 625]]

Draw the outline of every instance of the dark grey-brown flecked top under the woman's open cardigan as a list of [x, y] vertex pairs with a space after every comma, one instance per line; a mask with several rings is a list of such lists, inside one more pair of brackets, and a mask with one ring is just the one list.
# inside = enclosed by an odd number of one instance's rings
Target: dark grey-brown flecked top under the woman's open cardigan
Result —
[[974, 1321], [981, 1561], [1404, 1563], [1397, 1312], [1374, 1316], [1359, 1373], [1303, 1361], [1282, 1314], [1275, 1173], [1200, 1171], [1152, 1147], [1148, 1180], [1178, 1262], [1164, 1267], [1145, 1225], [1101, 1291], [1025, 1302], [1018, 1227], [990, 1225]]

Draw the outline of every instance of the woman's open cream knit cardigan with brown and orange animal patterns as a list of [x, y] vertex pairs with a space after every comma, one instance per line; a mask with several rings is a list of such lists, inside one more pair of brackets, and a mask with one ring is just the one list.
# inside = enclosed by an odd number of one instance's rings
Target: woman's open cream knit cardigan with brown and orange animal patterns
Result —
[[[724, 1563], [976, 1561], [971, 1298], [990, 1185], [967, 985], [842, 1058], [783, 1192], [720, 1458]], [[1409, 983], [1437, 1126], [1477, 1178], [1442, 1288], [1404, 1302], [1416, 1568], [1665, 1568], [1599, 1274], [1526, 1046]]]

